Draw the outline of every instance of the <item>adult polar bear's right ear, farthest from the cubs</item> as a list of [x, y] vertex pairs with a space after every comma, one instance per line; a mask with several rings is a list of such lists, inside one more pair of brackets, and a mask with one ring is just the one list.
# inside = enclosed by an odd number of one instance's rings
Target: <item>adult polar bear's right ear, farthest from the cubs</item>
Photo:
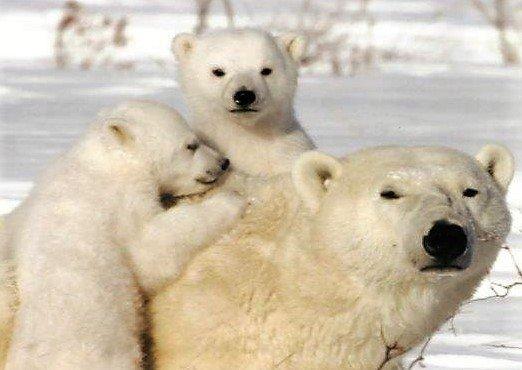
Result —
[[509, 149], [502, 145], [488, 144], [480, 149], [475, 158], [506, 192], [515, 173], [515, 158]]

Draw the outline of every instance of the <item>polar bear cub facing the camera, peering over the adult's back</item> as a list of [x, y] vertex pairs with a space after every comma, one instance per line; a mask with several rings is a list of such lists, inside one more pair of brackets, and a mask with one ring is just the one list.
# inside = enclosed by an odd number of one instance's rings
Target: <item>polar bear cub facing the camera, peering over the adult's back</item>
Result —
[[190, 124], [236, 169], [263, 176], [286, 172], [313, 147], [293, 108], [302, 37], [274, 38], [255, 29], [184, 33], [172, 50]]

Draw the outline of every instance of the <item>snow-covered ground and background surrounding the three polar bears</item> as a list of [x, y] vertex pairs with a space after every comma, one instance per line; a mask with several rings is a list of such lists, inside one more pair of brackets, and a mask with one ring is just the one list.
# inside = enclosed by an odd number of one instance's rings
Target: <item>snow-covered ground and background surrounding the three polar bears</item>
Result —
[[[317, 1], [335, 8], [335, 1]], [[66, 148], [96, 112], [126, 98], [157, 99], [186, 112], [174, 80], [171, 37], [191, 31], [194, 2], [88, 0], [89, 11], [129, 17], [129, 45], [121, 58], [132, 70], [53, 65], [53, 40], [62, 1], [0, 3], [0, 213], [27, 194], [48, 161]], [[223, 25], [219, 1], [211, 25]], [[232, 0], [239, 25], [291, 21], [299, 0]], [[507, 145], [519, 163], [508, 200], [514, 223], [509, 246], [522, 265], [522, 70], [501, 66], [497, 38], [479, 14], [452, 0], [375, 0], [372, 42], [402, 58], [364, 73], [333, 77], [328, 66], [307, 68], [296, 110], [324, 151], [342, 155], [380, 144], [440, 144], [476, 152], [489, 142]], [[352, 24], [334, 31], [359, 35]], [[519, 37], [519, 36], [517, 36]], [[503, 251], [490, 282], [519, 281]], [[502, 295], [503, 288], [497, 288]], [[411, 358], [418, 351], [412, 352]], [[472, 302], [431, 341], [415, 368], [522, 369], [522, 288]]]

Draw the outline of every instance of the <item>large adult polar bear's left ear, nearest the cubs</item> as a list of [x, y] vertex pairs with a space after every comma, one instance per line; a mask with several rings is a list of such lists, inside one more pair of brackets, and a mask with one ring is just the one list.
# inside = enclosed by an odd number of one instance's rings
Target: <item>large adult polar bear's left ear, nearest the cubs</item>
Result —
[[297, 159], [292, 169], [294, 186], [303, 202], [317, 211], [331, 182], [342, 173], [341, 163], [329, 155], [310, 151]]

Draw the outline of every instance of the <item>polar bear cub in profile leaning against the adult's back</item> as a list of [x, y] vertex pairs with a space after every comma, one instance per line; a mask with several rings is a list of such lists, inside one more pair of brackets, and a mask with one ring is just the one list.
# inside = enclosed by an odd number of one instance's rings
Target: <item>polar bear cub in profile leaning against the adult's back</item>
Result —
[[214, 187], [229, 166], [167, 106], [106, 111], [5, 224], [19, 306], [6, 369], [138, 369], [141, 294], [151, 296], [240, 216]]

